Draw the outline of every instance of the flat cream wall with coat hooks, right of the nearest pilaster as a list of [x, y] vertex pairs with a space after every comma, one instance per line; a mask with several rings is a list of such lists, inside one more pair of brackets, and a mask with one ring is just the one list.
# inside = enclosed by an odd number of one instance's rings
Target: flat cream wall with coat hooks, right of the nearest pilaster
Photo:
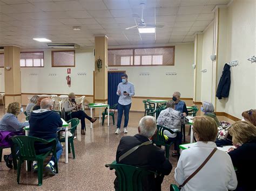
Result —
[[[255, 55], [255, 1], [234, 0], [227, 9], [227, 61], [238, 60], [231, 67], [230, 96], [217, 101], [217, 107], [241, 118], [241, 112], [255, 109], [256, 64], [247, 61]], [[218, 72], [218, 75], [221, 74]]]

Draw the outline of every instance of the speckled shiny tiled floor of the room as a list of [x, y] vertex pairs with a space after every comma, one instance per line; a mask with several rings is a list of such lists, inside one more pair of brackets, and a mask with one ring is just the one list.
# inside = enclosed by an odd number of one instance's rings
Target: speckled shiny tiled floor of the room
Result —
[[[0, 117], [4, 110], [0, 106]], [[89, 112], [88, 112], [89, 114]], [[129, 132], [127, 135], [133, 136], [137, 133], [139, 119], [144, 114], [138, 112], [130, 113]], [[24, 121], [25, 116], [18, 116]], [[187, 127], [188, 128], [188, 127]], [[98, 121], [94, 128], [90, 129], [90, 122], [86, 121], [86, 135], [80, 135], [80, 125], [77, 128], [77, 139], [75, 140], [76, 159], [72, 159], [69, 154], [69, 164], [65, 164], [63, 153], [59, 160], [59, 173], [55, 176], [44, 176], [43, 185], [37, 186], [37, 174], [26, 172], [22, 167], [21, 180], [17, 185], [17, 171], [6, 167], [5, 162], [0, 162], [0, 190], [114, 190], [114, 171], [110, 171], [104, 165], [115, 160], [116, 149], [119, 140], [124, 133], [115, 135], [116, 126], [110, 119], [110, 127], [101, 126]], [[187, 137], [188, 140], [188, 137]], [[9, 149], [4, 149], [4, 154], [9, 154]], [[2, 159], [3, 160], [3, 159]], [[174, 182], [174, 169], [177, 165], [177, 157], [170, 157], [173, 169], [169, 176], [165, 176], [162, 190], [169, 190], [170, 184]]]

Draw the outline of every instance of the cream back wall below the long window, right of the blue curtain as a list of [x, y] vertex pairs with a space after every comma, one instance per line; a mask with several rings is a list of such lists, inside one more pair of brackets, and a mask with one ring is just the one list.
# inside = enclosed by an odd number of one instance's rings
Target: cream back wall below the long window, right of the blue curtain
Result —
[[[192, 98], [194, 44], [175, 45], [174, 66], [109, 67], [125, 70], [129, 81], [134, 84], [135, 96], [171, 97], [173, 91], [180, 91], [181, 97]], [[177, 75], [166, 75], [176, 72]], [[149, 76], [139, 75], [150, 73]]]

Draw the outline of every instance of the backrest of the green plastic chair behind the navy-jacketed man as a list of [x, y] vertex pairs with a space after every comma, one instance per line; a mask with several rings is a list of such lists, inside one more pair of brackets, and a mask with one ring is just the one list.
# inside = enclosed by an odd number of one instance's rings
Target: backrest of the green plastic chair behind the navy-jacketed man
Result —
[[[49, 142], [44, 139], [30, 136], [14, 136], [11, 137], [12, 141], [18, 144], [19, 152], [23, 160], [31, 160], [36, 158], [35, 142], [48, 144]], [[56, 144], [55, 144], [56, 145]]]

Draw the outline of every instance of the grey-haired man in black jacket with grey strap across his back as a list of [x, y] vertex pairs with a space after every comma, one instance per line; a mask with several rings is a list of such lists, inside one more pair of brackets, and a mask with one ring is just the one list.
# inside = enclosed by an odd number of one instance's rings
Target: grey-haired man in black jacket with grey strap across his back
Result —
[[[145, 168], [150, 171], [158, 172], [158, 176], [148, 177], [143, 184], [143, 190], [161, 190], [161, 183], [164, 175], [169, 175], [172, 165], [165, 158], [165, 152], [161, 148], [154, 146], [151, 142], [152, 136], [157, 132], [157, 122], [152, 116], [145, 116], [139, 121], [138, 134], [134, 136], [122, 137], [117, 147], [116, 161], [119, 164], [126, 164]], [[139, 146], [126, 157], [124, 154], [131, 148]], [[118, 180], [114, 181], [114, 187], [117, 190]]]

